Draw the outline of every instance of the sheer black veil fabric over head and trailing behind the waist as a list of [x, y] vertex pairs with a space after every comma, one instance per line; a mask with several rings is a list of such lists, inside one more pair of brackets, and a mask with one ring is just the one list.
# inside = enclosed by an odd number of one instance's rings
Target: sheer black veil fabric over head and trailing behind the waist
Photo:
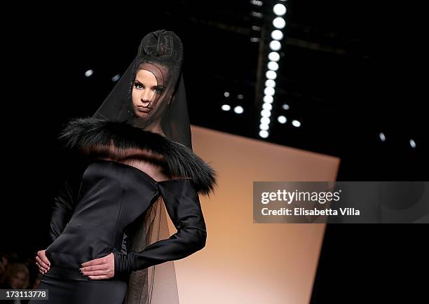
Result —
[[[159, 30], [142, 39], [137, 56], [116, 83], [94, 118], [130, 123], [145, 129], [161, 123], [165, 137], [192, 149], [191, 127], [182, 76], [183, 46], [174, 32]], [[140, 117], [132, 111], [132, 88], [138, 69], [147, 69], [156, 77], [162, 92], [151, 99], [151, 115]], [[132, 225], [126, 249], [141, 251], [172, 233], [168, 229], [167, 212], [162, 196]], [[125, 303], [179, 303], [175, 264], [173, 261], [132, 272]]]

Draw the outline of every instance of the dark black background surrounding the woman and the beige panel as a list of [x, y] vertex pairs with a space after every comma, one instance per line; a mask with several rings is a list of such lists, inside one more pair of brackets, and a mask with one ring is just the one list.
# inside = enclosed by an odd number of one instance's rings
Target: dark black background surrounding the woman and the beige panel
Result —
[[[191, 123], [261, 139], [258, 60], [266, 57], [267, 46], [251, 38], [271, 32], [277, 2], [4, 7], [2, 249], [34, 256], [47, 246], [52, 198], [69, 165], [57, 134], [69, 118], [94, 113], [114, 86], [111, 78], [128, 67], [148, 32], [170, 29], [184, 43]], [[269, 137], [261, 140], [338, 156], [341, 181], [428, 180], [423, 7], [284, 3], [287, 25], [272, 114], [288, 121], [274, 120]], [[94, 74], [87, 78], [88, 69]], [[245, 111], [222, 111], [225, 102]], [[281, 108], [284, 102], [290, 110]], [[301, 127], [293, 127], [292, 119]], [[426, 232], [424, 225], [328, 225], [313, 303], [423, 294], [417, 276], [428, 268]]]

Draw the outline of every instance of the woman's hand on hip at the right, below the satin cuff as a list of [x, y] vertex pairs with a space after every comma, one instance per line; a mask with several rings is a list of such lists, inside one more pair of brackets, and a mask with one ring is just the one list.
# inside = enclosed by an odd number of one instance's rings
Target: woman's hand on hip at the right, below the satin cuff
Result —
[[115, 275], [114, 253], [82, 263], [82, 268], [79, 269], [90, 279], [110, 279]]

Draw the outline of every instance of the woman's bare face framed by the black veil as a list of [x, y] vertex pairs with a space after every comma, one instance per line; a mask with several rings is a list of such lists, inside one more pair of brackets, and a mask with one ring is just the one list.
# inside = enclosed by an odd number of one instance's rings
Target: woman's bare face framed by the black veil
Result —
[[151, 102], [156, 93], [160, 94], [163, 88], [158, 86], [156, 77], [146, 69], [139, 69], [132, 86], [132, 109], [138, 117], [147, 117], [156, 106]]

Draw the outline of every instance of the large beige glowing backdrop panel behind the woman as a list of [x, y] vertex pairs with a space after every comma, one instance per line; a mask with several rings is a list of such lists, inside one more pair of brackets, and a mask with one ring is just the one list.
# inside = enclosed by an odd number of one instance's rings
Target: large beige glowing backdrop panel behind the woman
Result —
[[335, 181], [339, 158], [191, 129], [219, 186], [210, 200], [200, 196], [206, 247], [175, 262], [180, 303], [309, 303], [325, 224], [253, 223], [252, 183]]

